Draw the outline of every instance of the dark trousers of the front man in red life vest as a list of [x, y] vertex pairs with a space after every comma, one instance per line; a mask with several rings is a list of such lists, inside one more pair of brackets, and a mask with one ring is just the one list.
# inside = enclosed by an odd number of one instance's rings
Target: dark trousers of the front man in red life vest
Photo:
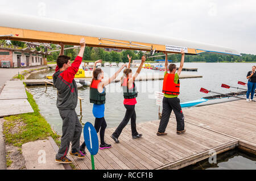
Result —
[[166, 131], [167, 124], [170, 120], [171, 112], [174, 110], [176, 121], [177, 121], [177, 131], [184, 130], [184, 115], [180, 106], [179, 98], [163, 98], [163, 112], [162, 118], [159, 123], [158, 132], [164, 133]]

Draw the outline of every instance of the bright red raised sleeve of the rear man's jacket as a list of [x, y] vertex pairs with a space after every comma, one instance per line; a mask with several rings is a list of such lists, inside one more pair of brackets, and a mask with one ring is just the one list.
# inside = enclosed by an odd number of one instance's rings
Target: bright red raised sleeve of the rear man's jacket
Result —
[[63, 73], [60, 74], [61, 77], [63, 77], [65, 81], [72, 83], [77, 71], [79, 70], [79, 66], [81, 65], [81, 62], [82, 62], [82, 57], [77, 56], [75, 61], [71, 64], [71, 66], [67, 70], [63, 71]]

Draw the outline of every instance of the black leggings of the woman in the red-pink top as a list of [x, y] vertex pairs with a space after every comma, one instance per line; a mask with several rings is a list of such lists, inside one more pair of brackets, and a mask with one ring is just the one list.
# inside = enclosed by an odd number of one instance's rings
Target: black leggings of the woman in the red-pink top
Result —
[[126, 112], [125, 117], [123, 117], [122, 122], [118, 125], [117, 129], [115, 129], [115, 132], [113, 133], [113, 136], [119, 137], [122, 133], [123, 128], [126, 127], [129, 120], [131, 119], [131, 135], [137, 136], [138, 132], [136, 130], [136, 112], [135, 112], [135, 105], [126, 105]]

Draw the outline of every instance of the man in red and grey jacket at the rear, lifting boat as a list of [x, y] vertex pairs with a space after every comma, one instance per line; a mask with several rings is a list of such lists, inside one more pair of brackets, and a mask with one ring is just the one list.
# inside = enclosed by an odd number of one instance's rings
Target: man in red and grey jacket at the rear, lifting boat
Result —
[[85, 40], [80, 40], [81, 49], [75, 61], [71, 64], [70, 57], [64, 56], [64, 45], [61, 44], [60, 56], [57, 58], [57, 66], [55, 74], [53, 74], [53, 84], [57, 88], [57, 108], [60, 117], [63, 120], [61, 144], [56, 154], [55, 162], [72, 163], [67, 158], [70, 142], [72, 142], [72, 150], [69, 155], [76, 158], [85, 158], [81, 154], [80, 137], [82, 133], [82, 125], [77, 117], [75, 108], [77, 105], [77, 85], [75, 75], [79, 70], [84, 55]]

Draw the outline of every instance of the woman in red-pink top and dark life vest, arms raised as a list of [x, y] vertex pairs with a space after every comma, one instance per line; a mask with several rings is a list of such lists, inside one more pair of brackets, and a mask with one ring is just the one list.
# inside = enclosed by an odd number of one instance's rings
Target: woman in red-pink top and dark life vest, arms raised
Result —
[[129, 65], [127, 69], [123, 70], [123, 77], [121, 80], [121, 86], [123, 88], [123, 104], [126, 108], [125, 117], [123, 117], [122, 122], [118, 125], [117, 129], [115, 129], [114, 133], [110, 136], [116, 143], [119, 143], [118, 137], [122, 133], [123, 128], [126, 127], [128, 122], [131, 119], [131, 135], [132, 138], [140, 138], [142, 134], [139, 134], [136, 129], [136, 112], [135, 112], [135, 104], [137, 104], [137, 89], [135, 86], [135, 79], [138, 77], [141, 72], [142, 66], [146, 61], [146, 57], [143, 56], [141, 60], [141, 65], [137, 69], [136, 73], [133, 75], [132, 70], [130, 69], [131, 57], [129, 57]]

